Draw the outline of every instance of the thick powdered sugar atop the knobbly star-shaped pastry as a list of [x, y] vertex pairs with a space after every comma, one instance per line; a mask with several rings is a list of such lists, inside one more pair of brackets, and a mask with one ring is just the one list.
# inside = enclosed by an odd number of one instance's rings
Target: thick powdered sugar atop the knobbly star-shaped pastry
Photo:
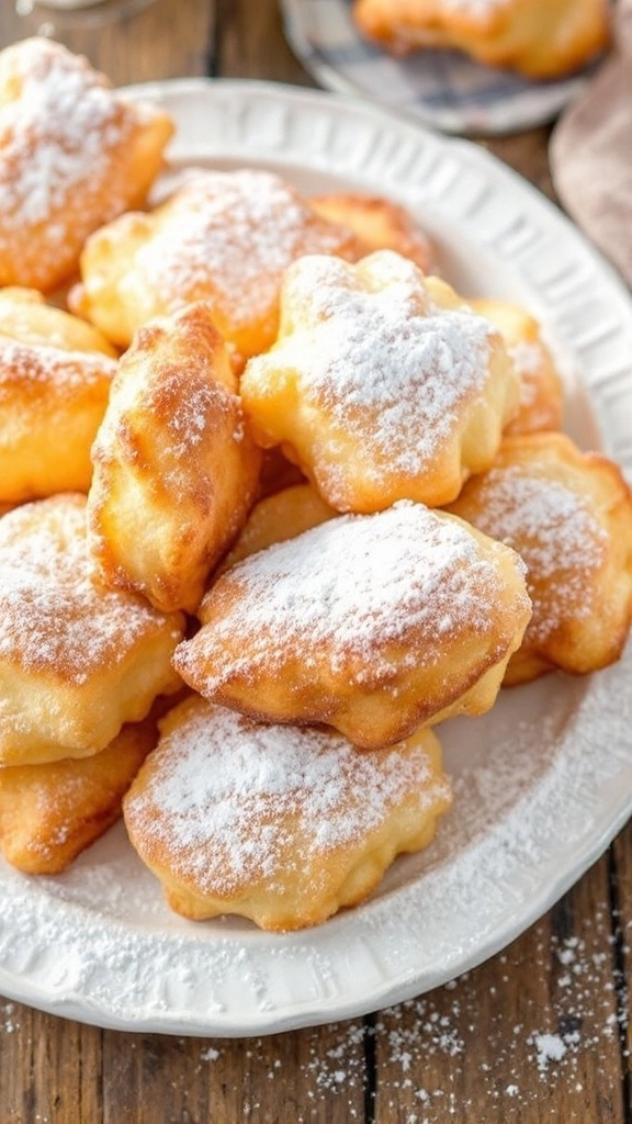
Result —
[[484, 395], [495, 329], [472, 311], [437, 308], [413, 263], [389, 251], [360, 269], [363, 285], [351, 282], [342, 261], [297, 262], [283, 305], [298, 329], [252, 361], [246, 378], [256, 384], [259, 363], [296, 371], [304, 402], [325, 410], [360, 450], [370, 442], [379, 457], [374, 478], [383, 460], [389, 471], [417, 477], [460, 432], [466, 406]]

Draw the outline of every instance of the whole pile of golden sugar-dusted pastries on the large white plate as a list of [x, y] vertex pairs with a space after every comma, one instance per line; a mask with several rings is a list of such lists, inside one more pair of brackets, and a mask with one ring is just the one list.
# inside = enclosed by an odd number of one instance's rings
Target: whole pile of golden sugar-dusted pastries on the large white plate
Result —
[[400, 206], [153, 205], [172, 130], [0, 56], [0, 847], [58, 872], [123, 813], [178, 913], [294, 930], [431, 842], [442, 722], [620, 656], [632, 497]]

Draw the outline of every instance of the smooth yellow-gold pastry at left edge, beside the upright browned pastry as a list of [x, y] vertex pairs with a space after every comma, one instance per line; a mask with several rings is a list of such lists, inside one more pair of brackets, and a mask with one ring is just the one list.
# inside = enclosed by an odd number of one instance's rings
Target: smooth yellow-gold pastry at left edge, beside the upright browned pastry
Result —
[[0, 292], [0, 501], [88, 491], [112, 355], [99, 332], [39, 292]]

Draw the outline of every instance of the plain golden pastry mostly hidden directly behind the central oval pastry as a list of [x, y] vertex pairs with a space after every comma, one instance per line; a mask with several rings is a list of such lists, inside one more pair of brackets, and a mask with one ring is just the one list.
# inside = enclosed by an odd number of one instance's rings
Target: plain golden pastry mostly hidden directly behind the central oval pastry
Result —
[[229, 570], [251, 554], [274, 543], [296, 538], [304, 531], [317, 527], [337, 515], [312, 484], [292, 484], [254, 505], [235, 545], [218, 566], [217, 573]]

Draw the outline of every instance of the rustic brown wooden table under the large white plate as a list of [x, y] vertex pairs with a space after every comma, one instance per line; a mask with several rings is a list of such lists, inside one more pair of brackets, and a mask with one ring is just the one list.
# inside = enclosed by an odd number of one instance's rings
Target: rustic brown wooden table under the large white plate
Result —
[[[40, 10], [19, 18], [3, 0], [0, 46], [43, 22]], [[99, 29], [46, 22], [117, 84], [184, 74], [314, 84], [286, 45], [276, 0], [156, 0]], [[486, 145], [552, 197], [547, 140], [542, 128]], [[0, 1000], [0, 1124], [629, 1124], [631, 924], [629, 827], [506, 952], [365, 1018], [182, 1039]]]

